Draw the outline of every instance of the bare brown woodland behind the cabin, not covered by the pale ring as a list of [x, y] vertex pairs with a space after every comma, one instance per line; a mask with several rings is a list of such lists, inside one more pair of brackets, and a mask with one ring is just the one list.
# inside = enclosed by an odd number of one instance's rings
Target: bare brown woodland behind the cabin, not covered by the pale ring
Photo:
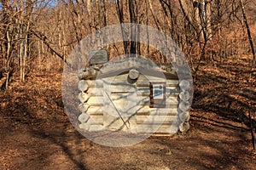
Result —
[[[31, 71], [61, 71], [63, 60], [84, 37], [104, 26], [126, 22], [153, 26], [172, 37], [193, 71], [206, 60], [222, 63], [227, 56], [250, 57], [252, 48], [241, 5], [254, 41], [253, 1], [2, 0], [0, 76], [6, 78], [0, 85], [8, 88], [18, 72], [20, 81], [25, 81]], [[110, 58], [137, 53], [166, 61], [154, 49], [136, 42], [112, 44], [108, 53]]]

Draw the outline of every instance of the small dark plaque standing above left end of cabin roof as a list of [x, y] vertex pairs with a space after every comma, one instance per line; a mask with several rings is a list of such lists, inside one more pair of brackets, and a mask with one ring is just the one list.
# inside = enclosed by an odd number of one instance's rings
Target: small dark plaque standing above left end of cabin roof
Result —
[[108, 52], [105, 49], [90, 51], [90, 65], [103, 64], [108, 62]]

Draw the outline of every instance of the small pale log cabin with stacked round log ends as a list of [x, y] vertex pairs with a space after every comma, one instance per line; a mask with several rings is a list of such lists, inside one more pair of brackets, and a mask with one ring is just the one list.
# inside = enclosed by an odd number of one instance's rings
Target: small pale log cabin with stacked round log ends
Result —
[[[154, 92], [152, 83], [162, 85], [164, 90]], [[189, 87], [189, 81], [178, 80], [172, 65], [155, 65], [146, 59], [92, 65], [79, 71], [79, 127], [90, 132], [186, 132]], [[162, 99], [165, 106], [151, 105], [156, 99]]]

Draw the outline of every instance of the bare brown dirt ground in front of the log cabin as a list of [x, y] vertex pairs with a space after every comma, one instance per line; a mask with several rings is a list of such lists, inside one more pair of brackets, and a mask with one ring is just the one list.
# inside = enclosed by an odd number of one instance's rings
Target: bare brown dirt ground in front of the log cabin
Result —
[[218, 118], [185, 135], [109, 148], [84, 139], [69, 122], [32, 127], [1, 117], [0, 169], [256, 169], [246, 127]]

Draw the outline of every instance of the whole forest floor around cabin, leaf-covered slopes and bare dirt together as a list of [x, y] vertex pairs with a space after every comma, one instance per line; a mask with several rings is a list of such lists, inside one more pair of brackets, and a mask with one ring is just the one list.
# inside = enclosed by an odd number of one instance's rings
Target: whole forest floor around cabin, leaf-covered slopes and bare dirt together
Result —
[[0, 92], [0, 169], [256, 169], [256, 70], [249, 59], [201, 65], [190, 130], [110, 148], [74, 130], [64, 113], [61, 73], [30, 73]]

